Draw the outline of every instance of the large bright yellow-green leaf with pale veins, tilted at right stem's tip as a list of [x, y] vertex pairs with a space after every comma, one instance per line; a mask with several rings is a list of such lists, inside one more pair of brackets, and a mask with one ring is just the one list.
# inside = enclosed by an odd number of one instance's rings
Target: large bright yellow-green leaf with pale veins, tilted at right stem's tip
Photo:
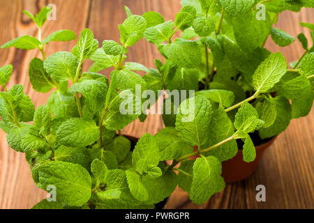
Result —
[[278, 83], [287, 72], [287, 62], [280, 52], [265, 59], [253, 75], [253, 86], [257, 93], [266, 93]]

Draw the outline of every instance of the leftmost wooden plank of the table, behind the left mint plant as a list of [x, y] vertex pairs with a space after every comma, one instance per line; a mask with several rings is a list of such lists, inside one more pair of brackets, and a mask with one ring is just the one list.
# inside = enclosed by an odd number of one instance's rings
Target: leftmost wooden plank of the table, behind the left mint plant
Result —
[[[43, 27], [43, 37], [59, 29], [71, 29], [75, 33], [80, 33], [84, 29], [89, 17], [89, 1], [54, 0], [50, 3], [57, 6], [57, 20], [47, 22], [47, 25]], [[0, 26], [0, 45], [18, 36], [37, 34], [35, 24], [26, 15], [22, 15], [22, 10], [38, 13], [38, 10], [46, 5], [46, 1], [0, 0], [0, 5], [0, 18], [3, 21]], [[75, 41], [50, 43], [45, 52], [49, 56], [60, 50], [70, 50], [74, 45]], [[23, 84], [25, 92], [38, 107], [45, 104], [49, 93], [36, 93], [31, 89], [27, 70], [29, 62], [35, 56], [40, 57], [36, 50], [27, 52], [13, 48], [1, 49], [0, 66], [13, 64], [13, 78], [8, 87], [17, 83]], [[31, 208], [45, 198], [46, 192], [38, 189], [33, 183], [24, 154], [9, 148], [2, 131], [0, 132], [0, 148], [0, 208]]]

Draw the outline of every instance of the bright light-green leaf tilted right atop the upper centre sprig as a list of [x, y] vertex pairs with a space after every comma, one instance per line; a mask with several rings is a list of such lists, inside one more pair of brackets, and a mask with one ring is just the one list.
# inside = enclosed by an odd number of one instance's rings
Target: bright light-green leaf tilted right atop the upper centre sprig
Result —
[[144, 36], [147, 22], [140, 15], [131, 15], [119, 25], [120, 41], [124, 47], [131, 47]]

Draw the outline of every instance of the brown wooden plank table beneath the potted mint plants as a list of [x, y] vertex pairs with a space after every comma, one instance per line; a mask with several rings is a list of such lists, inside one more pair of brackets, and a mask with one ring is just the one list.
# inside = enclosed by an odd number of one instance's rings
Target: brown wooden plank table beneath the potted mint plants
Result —
[[[166, 20], [173, 20], [181, 8], [179, 0], [0, 0], [0, 45], [17, 36], [36, 35], [36, 26], [22, 14], [22, 10], [37, 13], [47, 3], [57, 6], [57, 21], [47, 22], [43, 28], [44, 37], [59, 29], [71, 29], [79, 34], [88, 27], [100, 43], [103, 40], [119, 40], [117, 25], [126, 18], [125, 5], [138, 15], [147, 10], [156, 10]], [[279, 17], [276, 26], [292, 36], [306, 31], [306, 36], [311, 39], [308, 31], [299, 26], [299, 22], [314, 23], [313, 8], [302, 9], [301, 13], [285, 12]], [[49, 56], [59, 50], [70, 51], [75, 44], [75, 41], [51, 43], [47, 45], [46, 54]], [[281, 48], [269, 40], [267, 47], [271, 52], [283, 52], [288, 62], [298, 59], [304, 52], [297, 41]], [[0, 66], [8, 63], [14, 66], [13, 78], [8, 87], [23, 84], [38, 107], [45, 104], [49, 94], [36, 93], [31, 89], [27, 70], [34, 56], [40, 57], [38, 51], [0, 49]], [[156, 47], [146, 40], [141, 40], [128, 53], [128, 61], [143, 63], [148, 67], [154, 67], [153, 59], [156, 58], [161, 59]], [[292, 120], [290, 127], [264, 154], [255, 174], [247, 180], [227, 185], [223, 192], [200, 206], [190, 203], [187, 194], [178, 189], [170, 197], [167, 208], [314, 208], [313, 116], [312, 111], [306, 118]], [[160, 128], [163, 128], [163, 123], [160, 116], [155, 115], [149, 116], [144, 123], [135, 121], [124, 133], [140, 137], [144, 132], [155, 134]], [[260, 184], [266, 186], [266, 202], [255, 200], [255, 187]], [[45, 198], [45, 194], [33, 183], [24, 154], [10, 149], [5, 134], [0, 130], [0, 208], [31, 208]]]

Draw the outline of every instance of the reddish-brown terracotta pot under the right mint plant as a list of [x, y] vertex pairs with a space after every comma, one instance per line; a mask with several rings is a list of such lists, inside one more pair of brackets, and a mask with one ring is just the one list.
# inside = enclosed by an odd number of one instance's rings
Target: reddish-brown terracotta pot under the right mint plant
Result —
[[245, 178], [248, 178], [257, 168], [264, 151], [274, 143], [277, 137], [272, 138], [267, 143], [256, 146], [256, 158], [253, 162], [244, 162], [242, 157], [242, 150], [239, 150], [231, 160], [222, 162], [223, 165], [223, 178], [225, 183], [234, 183]]

